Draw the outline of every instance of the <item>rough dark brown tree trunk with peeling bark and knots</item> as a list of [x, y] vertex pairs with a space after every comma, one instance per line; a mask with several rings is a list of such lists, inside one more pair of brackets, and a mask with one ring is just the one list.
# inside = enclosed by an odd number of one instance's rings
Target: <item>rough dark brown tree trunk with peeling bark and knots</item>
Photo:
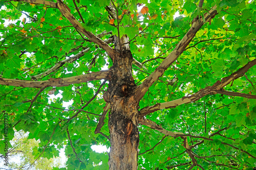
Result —
[[133, 57], [131, 51], [127, 50], [120, 56], [112, 56], [112, 59], [109, 88], [104, 93], [105, 102], [111, 104], [109, 168], [137, 169], [138, 102], [134, 96], [136, 85], [132, 77]]

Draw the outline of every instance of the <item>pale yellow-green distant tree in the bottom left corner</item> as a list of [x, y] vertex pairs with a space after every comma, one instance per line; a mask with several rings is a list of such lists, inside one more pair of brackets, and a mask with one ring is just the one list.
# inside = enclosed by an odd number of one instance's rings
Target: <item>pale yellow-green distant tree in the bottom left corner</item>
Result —
[[[52, 155], [49, 157], [43, 155], [35, 160], [34, 155], [40, 154], [38, 152], [39, 139], [28, 139], [28, 133], [19, 131], [14, 133], [14, 138], [10, 141], [12, 147], [8, 150], [9, 166], [10, 169], [26, 169], [32, 163], [33, 169], [52, 169], [61, 165], [60, 157]], [[3, 164], [5, 155], [0, 155], [1, 163]], [[46, 158], [46, 157], [49, 157]], [[2, 162], [3, 161], [3, 162]]]

